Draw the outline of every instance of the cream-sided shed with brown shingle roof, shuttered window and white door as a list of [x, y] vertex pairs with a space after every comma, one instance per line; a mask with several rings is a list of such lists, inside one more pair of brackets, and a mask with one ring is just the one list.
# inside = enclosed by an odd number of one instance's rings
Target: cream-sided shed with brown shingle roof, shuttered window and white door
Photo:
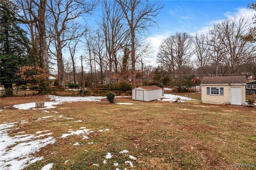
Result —
[[202, 79], [202, 103], [245, 105], [246, 76], [217, 76]]

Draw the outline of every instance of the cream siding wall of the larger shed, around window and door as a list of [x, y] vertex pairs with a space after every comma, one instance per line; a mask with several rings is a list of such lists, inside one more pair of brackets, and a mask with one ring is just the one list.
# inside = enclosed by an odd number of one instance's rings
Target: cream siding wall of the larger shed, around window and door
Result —
[[[224, 95], [207, 95], [207, 87], [223, 87]], [[202, 103], [208, 104], [229, 104], [230, 103], [230, 87], [242, 87], [242, 105], [245, 105], [245, 85], [202, 85]]]

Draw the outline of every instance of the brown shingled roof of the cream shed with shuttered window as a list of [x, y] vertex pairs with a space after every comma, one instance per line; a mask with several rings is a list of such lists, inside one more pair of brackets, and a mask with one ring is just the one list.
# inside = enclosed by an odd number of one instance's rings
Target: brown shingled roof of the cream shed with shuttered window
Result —
[[202, 84], [237, 84], [246, 83], [245, 75], [204, 77]]

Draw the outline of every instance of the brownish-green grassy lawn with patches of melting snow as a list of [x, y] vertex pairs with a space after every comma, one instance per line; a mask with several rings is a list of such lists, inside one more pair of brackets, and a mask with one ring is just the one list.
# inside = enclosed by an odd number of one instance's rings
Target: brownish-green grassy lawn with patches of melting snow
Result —
[[[1, 108], [47, 100], [42, 96], [3, 98]], [[25, 131], [24, 134], [35, 134], [40, 130], [53, 132], [51, 136], [56, 142], [34, 154], [44, 159], [26, 168], [31, 170], [40, 170], [48, 163], [54, 163], [52, 169], [55, 170], [130, 169], [130, 164], [125, 161], [131, 161], [132, 169], [136, 170], [231, 170], [236, 168], [232, 166], [235, 163], [256, 166], [255, 107], [208, 105], [200, 101], [140, 102], [132, 101], [131, 97], [116, 98], [115, 101], [134, 105], [110, 104], [103, 100], [65, 103], [54, 109], [44, 109], [49, 113], [4, 109], [0, 112], [0, 120], [1, 123], [27, 120], [28, 123], [18, 124], [19, 129], [12, 129], [10, 136], [21, 131]], [[54, 117], [37, 121], [45, 116]], [[78, 120], [81, 122], [75, 122]], [[61, 138], [68, 129], [79, 130], [81, 127], [94, 132], [84, 140], [81, 135]], [[98, 131], [106, 128], [110, 130]], [[76, 142], [79, 145], [73, 145]], [[128, 152], [120, 153], [122, 150]], [[108, 152], [112, 158], [104, 164]], [[129, 155], [137, 160], [132, 160]], [[118, 166], [114, 166], [116, 163]]]

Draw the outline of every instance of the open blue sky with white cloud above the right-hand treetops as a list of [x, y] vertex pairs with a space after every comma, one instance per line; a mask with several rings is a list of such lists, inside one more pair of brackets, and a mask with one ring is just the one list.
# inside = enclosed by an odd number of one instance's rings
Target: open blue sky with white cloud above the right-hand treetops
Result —
[[223, 19], [246, 16], [252, 18], [256, 11], [249, 10], [248, 4], [255, 0], [162, 0], [165, 8], [158, 16], [158, 27], [150, 29], [148, 41], [154, 48], [152, 59], [146, 63], [152, 65], [156, 61], [161, 41], [176, 32], [195, 35], [206, 32], [213, 24]]

